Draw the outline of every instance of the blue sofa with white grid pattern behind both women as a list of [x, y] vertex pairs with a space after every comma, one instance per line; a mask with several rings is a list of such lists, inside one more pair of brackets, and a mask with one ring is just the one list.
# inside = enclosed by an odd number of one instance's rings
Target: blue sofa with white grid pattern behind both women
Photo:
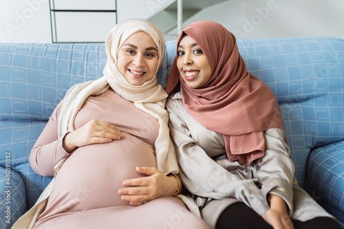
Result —
[[[327, 37], [242, 39], [248, 71], [275, 94], [299, 185], [344, 223], [344, 41]], [[166, 85], [175, 41], [166, 42]], [[103, 76], [103, 43], [0, 43], [0, 227], [10, 228], [51, 177], [30, 150], [67, 89]]]

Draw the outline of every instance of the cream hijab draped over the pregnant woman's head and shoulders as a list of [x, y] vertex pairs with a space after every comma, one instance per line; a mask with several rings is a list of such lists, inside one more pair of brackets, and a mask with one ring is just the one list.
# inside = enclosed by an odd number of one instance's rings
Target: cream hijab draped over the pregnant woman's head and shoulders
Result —
[[[118, 50], [125, 41], [136, 32], [146, 32], [158, 47], [158, 67], [164, 58], [164, 36], [162, 32], [149, 21], [143, 19], [129, 19], [112, 28], [107, 35], [105, 48], [107, 63], [103, 71], [104, 76], [98, 80], [74, 85], [65, 95], [58, 120], [58, 137], [74, 130], [74, 119], [89, 96], [97, 96], [109, 87], [123, 98], [134, 102], [134, 105], [153, 116], [160, 124], [159, 135], [155, 140], [155, 155], [157, 166], [163, 173], [178, 173], [173, 143], [169, 136], [169, 115], [164, 109], [167, 94], [158, 85], [156, 75], [143, 85], [133, 86], [117, 68]], [[158, 72], [158, 68], [156, 69]], [[155, 74], [156, 74], [155, 72]], [[61, 168], [63, 161], [56, 165], [56, 171]]]

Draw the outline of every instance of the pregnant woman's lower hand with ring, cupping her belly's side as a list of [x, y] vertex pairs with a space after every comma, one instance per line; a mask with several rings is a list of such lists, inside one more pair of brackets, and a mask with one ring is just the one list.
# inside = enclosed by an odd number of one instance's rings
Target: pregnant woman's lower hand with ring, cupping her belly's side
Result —
[[174, 195], [178, 188], [176, 179], [167, 177], [158, 168], [136, 167], [136, 171], [147, 177], [127, 179], [122, 184], [131, 187], [118, 190], [121, 199], [129, 201], [130, 205], [141, 205], [158, 197]]

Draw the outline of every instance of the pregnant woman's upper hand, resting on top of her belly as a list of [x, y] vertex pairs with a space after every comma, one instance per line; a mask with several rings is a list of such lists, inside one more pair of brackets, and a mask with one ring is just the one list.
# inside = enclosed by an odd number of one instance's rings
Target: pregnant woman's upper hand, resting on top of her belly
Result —
[[102, 120], [90, 120], [83, 127], [65, 135], [63, 148], [68, 153], [74, 149], [94, 143], [107, 143], [112, 140], [120, 140], [123, 133], [116, 126]]

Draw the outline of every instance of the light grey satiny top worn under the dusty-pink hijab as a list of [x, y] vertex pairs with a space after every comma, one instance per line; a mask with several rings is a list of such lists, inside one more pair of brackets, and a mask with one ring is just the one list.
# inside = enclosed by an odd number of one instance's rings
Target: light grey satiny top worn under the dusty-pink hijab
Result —
[[243, 201], [259, 215], [264, 214], [269, 208], [268, 194], [286, 201], [292, 219], [332, 217], [298, 186], [283, 130], [266, 130], [264, 157], [255, 164], [243, 166], [223, 158], [226, 151], [222, 134], [197, 122], [184, 108], [180, 92], [167, 100], [166, 109], [183, 185], [212, 228], [222, 211], [238, 201]]

